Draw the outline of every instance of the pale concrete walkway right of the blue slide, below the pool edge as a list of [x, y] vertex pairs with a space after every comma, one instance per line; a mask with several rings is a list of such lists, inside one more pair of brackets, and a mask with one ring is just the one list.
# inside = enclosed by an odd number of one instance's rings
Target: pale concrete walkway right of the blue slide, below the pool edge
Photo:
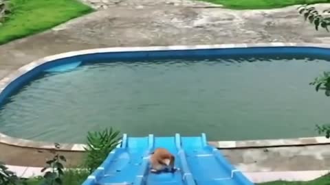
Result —
[[314, 171], [330, 168], [329, 145], [221, 151], [241, 171]]

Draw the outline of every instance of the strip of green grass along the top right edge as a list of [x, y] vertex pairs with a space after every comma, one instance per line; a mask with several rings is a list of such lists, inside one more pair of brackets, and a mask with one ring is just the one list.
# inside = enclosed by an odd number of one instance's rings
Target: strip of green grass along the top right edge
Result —
[[272, 9], [283, 8], [288, 5], [330, 3], [330, 0], [203, 0], [210, 3], [221, 4], [225, 8], [238, 10], [245, 9]]

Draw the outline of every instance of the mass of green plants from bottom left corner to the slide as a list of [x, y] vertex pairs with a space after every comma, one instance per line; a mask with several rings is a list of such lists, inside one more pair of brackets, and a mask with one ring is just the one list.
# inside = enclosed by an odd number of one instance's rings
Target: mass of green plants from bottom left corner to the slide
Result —
[[55, 143], [54, 154], [51, 160], [46, 161], [46, 166], [41, 170], [43, 177], [34, 177], [29, 180], [21, 180], [15, 173], [8, 171], [5, 164], [0, 162], [0, 185], [80, 185], [87, 179], [88, 175], [102, 164], [109, 153], [120, 144], [120, 132], [112, 128], [102, 132], [88, 132], [86, 157], [83, 169], [65, 170], [65, 156], [59, 155], [56, 151], [60, 148]]

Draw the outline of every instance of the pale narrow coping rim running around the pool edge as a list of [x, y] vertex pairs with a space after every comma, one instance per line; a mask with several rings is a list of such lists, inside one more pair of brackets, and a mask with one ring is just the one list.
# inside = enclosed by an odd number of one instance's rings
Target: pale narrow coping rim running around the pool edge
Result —
[[[132, 52], [132, 51], [170, 51], [170, 50], [194, 50], [194, 49], [232, 49], [247, 47], [317, 47], [330, 49], [330, 44], [308, 43], [308, 42], [269, 42], [269, 43], [253, 43], [253, 44], [221, 44], [221, 45], [173, 45], [173, 46], [155, 46], [155, 47], [109, 47], [85, 49], [80, 51], [69, 51], [67, 53], [59, 53], [54, 56], [47, 56], [39, 60], [30, 62], [21, 66], [21, 68], [13, 71], [8, 76], [0, 80], [0, 93], [15, 79], [21, 75], [31, 71], [36, 66], [58, 60], [61, 58], [69, 58], [74, 56], [86, 55], [91, 53], [115, 53], [115, 52]], [[34, 140], [26, 140], [23, 138], [14, 138], [0, 133], [0, 143], [17, 147], [28, 147], [34, 149], [54, 149], [54, 143], [47, 143]], [[330, 140], [324, 136], [307, 137], [307, 138], [281, 138], [268, 140], [223, 140], [210, 141], [210, 145], [218, 149], [243, 149], [256, 147], [289, 147], [289, 146], [305, 146], [305, 145], [327, 145]], [[60, 151], [85, 151], [84, 144], [77, 143], [60, 143]]]

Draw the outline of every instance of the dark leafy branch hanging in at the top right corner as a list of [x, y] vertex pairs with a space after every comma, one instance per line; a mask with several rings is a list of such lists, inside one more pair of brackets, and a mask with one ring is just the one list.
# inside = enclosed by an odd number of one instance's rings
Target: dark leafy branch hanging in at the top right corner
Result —
[[315, 7], [309, 5], [301, 5], [297, 8], [299, 14], [303, 14], [305, 21], [309, 20], [309, 23], [314, 24], [316, 30], [319, 27], [326, 29], [329, 32], [328, 26], [330, 25], [330, 17], [327, 15], [330, 10], [323, 10], [322, 13], [318, 12]]

